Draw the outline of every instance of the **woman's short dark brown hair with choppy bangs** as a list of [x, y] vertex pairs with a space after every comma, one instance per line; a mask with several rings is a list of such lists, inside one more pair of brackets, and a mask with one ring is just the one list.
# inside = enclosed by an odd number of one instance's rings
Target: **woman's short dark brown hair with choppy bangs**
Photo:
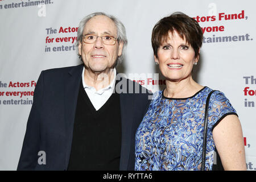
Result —
[[168, 39], [168, 33], [176, 31], [180, 38], [186, 39], [187, 43], [195, 51], [195, 57], [199, 56], [199, 49], [203, 43], [203, 31], [195, 19], [181, 12], [166, 16], [155, 24], [152, 31], [151, 43], [154, 55], [158, 57], [158, 48]]

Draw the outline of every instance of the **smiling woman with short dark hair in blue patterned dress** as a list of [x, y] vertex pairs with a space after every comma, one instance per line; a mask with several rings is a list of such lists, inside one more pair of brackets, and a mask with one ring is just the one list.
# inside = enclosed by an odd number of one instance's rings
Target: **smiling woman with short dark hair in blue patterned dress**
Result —
[[[191, 76], [199, 61], [203, 32], [193, 18], [174, 13], [156, 23], [152, 47], [166, 88], [154, 94], [138, 127], [136, 170], [201, 170], [205, 103], [212, 89]], [[245, 150], [236, 110], [222, 92], [210, 96], [205, 170], [214, 149], [225, 170], [245, 170]]]

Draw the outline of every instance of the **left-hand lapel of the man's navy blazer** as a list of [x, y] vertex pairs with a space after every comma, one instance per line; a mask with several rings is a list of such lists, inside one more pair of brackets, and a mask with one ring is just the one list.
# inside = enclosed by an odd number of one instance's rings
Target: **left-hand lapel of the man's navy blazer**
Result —
[[71, 68], [67, 73], [64, 81], [64, 116], [65, 116], [65, 132], [67, 137], [67, 150], [65, 155], [65, 169], [68, 168], [69, 156], [71, 153], [73, 126], [75, 122], [77, 97], [82, 77], [83, 64]]

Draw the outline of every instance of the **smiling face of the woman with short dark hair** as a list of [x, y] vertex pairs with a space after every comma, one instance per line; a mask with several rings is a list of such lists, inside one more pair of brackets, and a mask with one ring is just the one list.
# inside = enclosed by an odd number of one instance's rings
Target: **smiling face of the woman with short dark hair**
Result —
[[159, 63], [163, 76], [170, 81], [191, 77], [193, 64], [198, 61], [194, 49], [176, 31], [173, 34], [169, 32], [167, 41], [160, 45], [157, 54], [155, 61]]

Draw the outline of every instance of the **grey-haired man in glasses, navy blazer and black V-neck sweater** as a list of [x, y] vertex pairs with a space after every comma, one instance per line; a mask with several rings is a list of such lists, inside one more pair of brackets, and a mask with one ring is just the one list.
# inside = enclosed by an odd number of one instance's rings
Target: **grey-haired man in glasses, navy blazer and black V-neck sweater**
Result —
[[18, 169], [134, 170], [135, 132], [150, 100], [116, 74], [126, 44], [125, 27], [113, 16], [81, 20], [84, 64], [39, 76]]

